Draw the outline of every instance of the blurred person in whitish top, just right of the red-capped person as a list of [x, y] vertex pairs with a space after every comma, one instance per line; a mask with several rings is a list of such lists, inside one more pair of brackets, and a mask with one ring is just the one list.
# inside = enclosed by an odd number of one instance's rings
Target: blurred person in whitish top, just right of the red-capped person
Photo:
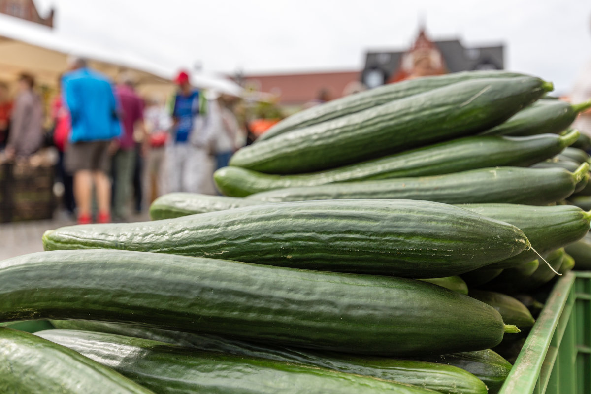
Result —
[[215, 135], [215, 170], [226, 167], [232, 154], [246, 143], [246, 135], [232, 111], [235, 101], [235, 97], [230, 95], [217, 95], [211, 101], [210, 122]]

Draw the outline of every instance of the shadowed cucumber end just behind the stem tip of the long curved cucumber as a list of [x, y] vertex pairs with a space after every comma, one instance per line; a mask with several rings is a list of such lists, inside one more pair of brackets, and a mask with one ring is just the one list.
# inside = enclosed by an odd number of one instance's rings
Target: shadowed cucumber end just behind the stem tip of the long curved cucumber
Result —
[[521, 331], [525, 328], [531, 328], [535, 319], [531, 315], [530, 310], [522, 304], [518, 299], [510, 295], [502, 294], [496, 291], [476, 290], [470, 289], [470, 297], [478, 299], [487, 305], [495, 308], [501, 316], [503, 321], [507, 324], [514, 324], [519, 327]]

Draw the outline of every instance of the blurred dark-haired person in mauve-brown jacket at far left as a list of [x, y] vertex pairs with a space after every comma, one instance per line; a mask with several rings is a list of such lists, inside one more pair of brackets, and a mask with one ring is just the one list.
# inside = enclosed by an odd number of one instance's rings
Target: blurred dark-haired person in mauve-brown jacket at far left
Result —
[[10, 130], [6, 145], [8, 159], [28, 157], [43, 143], [43, 104], [35, 93], [35, 80], [31, 74], [18, 77], [18, 93], [10, 118]]

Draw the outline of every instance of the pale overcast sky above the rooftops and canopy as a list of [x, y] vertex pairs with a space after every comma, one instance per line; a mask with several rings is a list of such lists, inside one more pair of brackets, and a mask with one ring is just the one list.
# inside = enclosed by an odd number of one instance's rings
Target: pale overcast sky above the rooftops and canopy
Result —
[[34, 0], [56, 29], [171, 70], [246, 74], [360, 70], [368, 50], [434, 40], [505, 45], [506, 69], [567, 93], [591, 60], [590, 0]]

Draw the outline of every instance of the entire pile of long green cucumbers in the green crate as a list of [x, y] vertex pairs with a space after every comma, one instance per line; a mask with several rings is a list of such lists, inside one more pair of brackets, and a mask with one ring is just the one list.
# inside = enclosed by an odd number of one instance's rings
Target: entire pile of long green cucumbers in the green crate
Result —
[[379, 87], [236, 152], [226, 197], [48, 231], [0, 262], [0, 321], [56, 327], [0, 327], [0, 391], [498, 392], [534, 324], [518, 298], [572, 268], [591, 220], [562, 203], [589, 180], [565, 150], [588, 105], [548, 90], [505, 71]]

